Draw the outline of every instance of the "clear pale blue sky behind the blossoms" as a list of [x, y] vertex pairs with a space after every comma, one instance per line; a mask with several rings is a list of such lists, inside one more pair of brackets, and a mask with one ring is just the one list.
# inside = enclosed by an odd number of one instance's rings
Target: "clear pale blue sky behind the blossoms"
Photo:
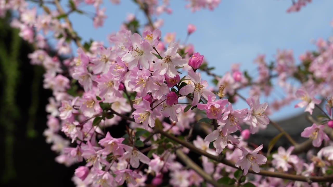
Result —
[[[176, 32], [176, 39], [183, 41], [187, 25], [194, 24], [197, 30], [188, 42], [195, 46], [196, 52], [205, 56], [209, 66], [216, 67], [214, 73], [219, 75], [228, 71], [232, 63], [240, 63], [241, 70], [253, 72], [256, 70], [253, 59], [257, 54], [266, 54], [266, 60], [270, 61], [277, 49], [292, 49], [295, 59], [298, 59], [306, 50], [315, 49], [311, 39], [327, 39], [332, 35], [332, 0], [314, 0], [300, 12], [291, 14], [286, 13], [291, 0], [222, 0], [214, 11], [200, 10], [195, 13], [185, 9], [187, 3], [184, 0], [170, 1], [172, 14], [161, 15], [164, 19], [162, 35]], [[103, 7], [106, 7], [108, 16], [103, 28], [93, 28], [92, 20], [84, 15], [70, 16], [74, 30], [83, 40], [94, 39], [107, 45], [107, 36], [119, 30], [127, 13], [135, 13], [142, 24], [146, 23], [143, 13], [131, 0], [121, 0], [119, 5], [105, 0]], [[205, 75], [202, 77], [208, 79]], [[242, 94], [248, 95], [247, 91]], [[303, 111], [294, 109], [294, 104], [276, 112], [272, 118]], [[246, 103], [239, 101], [234, 108], [246, 106]]]

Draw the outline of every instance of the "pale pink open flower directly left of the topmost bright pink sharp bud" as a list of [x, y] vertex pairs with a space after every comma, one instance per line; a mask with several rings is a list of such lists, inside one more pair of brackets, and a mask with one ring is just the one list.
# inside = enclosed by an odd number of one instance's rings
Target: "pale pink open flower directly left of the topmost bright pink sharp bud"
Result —
[[159, 71], [160, 75], [166, 74], [169, 77], [175, 77], [177, 75], [176, 66], [182, 67], [186, 64], [186, 61], [181, 59], [181, 56], [177, 53], [177, 50], [178, 44], [171, 43], [164, 53], [164, 57], [156, 61], [154, 64], [154, 69]]

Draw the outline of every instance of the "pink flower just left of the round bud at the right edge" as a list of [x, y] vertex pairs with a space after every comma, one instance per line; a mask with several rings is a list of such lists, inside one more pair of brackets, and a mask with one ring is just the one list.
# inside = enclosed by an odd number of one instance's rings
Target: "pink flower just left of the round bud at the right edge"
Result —
[[328, 141], [330, 138], [327, 134], [323, 131], [324, 125], [317, 125], [315, 123], [312, 124], [310, 127], [306, 127], [304, 131], [301, 133], [302, 137], [312, 139], [312, 145], [314, 147], [319, 147], [323, 140]]

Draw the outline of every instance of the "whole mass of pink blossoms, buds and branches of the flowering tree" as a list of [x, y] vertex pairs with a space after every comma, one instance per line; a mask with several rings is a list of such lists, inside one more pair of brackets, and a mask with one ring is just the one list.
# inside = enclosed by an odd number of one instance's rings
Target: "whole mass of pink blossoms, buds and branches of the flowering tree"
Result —
[[[76, 186], [158, 186], [165, 180], [176, 187], [333, 186], [331, 41], [319, 39], [317, 51], [305, 52], [298, 65], [292, 51], [277, 51], [270, 64], [265, 55], [258, 55], [254, 60], [258, 77], [241, 72], [237, 65], [216, 75], [193, 45], [174, 42], [174, 34], [159, 30], [163, 20], [152, 20], [152, 15], [171, 13], [167, 0], [134, 2], [147, 18], [143, 32], [138, 31], [135, 16], [129, 16], [105, 46], [97, 41], [82, 44], [68, 18], [85, 14], [80, 9], [84, 5], [93, 6], [93, 26], [102, 27], [106, 18], [102, 0], [69, 0], [69, 12], [59, 0], [0, 0], [0, 15], [14, 12], [11, 26], [34, 47], [31, 64], [45, 68], [44, 88], [52, 90], [53, 97], [46, 106], [50, 114], [44, 135], [59, 153], [57, 162], [81, 165], [73, 171]], [[287, 12], [310, 2], [292, 1]], [[187, 8], [214, 10], [219, 3], [189, 0]], [[189, 24], [187, 37], [195, 30]], [[57, 41], [54, 56], [47, 36]], [[70, 56], [72, 50], [75, 56]], [[61, 61], [60, 56], [66, 59]], [[213, 78], [213, 86], [201, 78], [203, 73]], [[273, 79], [286, 96], [262, 102], [261, 94], [273, 92]], [[247, 97], [239, 94], [245, 88], [250, 88]], [[238, 98], [248, 107], [234, 108]], [[313, 125], [300, 134], [308, 138], [304, 142], [295, 142], [269, 119], [294, 100], [299, 101], [295, 107], [309, 114], [315, 107], [322, 111], [309, 117]], [[194, 123], [204, 137], [192, 137]], [[113, 133], [108, 130], [113, 125], [126, 126], [126, 131]], [[267, 125], [281, 132], [269, 147], [246, 141]], [[271, 153], [281, 136], [290, 146]], [[199, 162], [188, 152], [196, 153]], [[301, 153], [307, 156], [298, 156]]]

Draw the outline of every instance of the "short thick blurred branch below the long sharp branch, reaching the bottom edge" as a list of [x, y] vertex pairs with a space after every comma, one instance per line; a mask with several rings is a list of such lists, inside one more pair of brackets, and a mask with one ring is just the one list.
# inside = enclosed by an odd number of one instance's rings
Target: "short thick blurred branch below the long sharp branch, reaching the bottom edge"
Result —
[[177, 157], [186, 164], [187, 167], [194, 170], [198, 175], [200, 175], [205, 181], [212, 184], [213, 186], [221, 186], [216, 182], [209, 174], [202, 170], [200, 166], [198, 166], [195, 162], [193, 162], [186, 154], [184, 154], [180, 149], [176, 150]]

